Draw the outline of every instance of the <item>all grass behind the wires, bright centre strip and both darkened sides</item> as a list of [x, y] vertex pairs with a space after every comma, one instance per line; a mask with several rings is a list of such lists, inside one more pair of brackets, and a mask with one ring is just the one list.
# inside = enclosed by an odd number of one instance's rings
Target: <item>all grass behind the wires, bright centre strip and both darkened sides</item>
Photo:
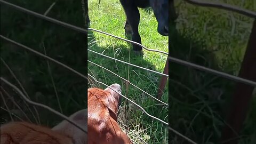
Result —
[[[10, 0], [8, 2], [41, 14], [56, 2], [47, 14], [49, 17], [79, 27], [84, 25], [80, 1]], [[253, 0], [222, 0], [220, 2], [256, 10], [256, 3]], [[98, 4], [99, 1], [96, 0], [90, 0], [88, 4], [91, 27], [125, 37], [123, 29], [125, 14], [118, 0], [100, 1]], [[237, 75], [253, 20], [236, 13], [193, 6], [181, 0], [175, 1], [175, 6], [179, 14], [178, 31], [172, 31], [169, 43], [167, 43], [168, 37], [157, 33], [153, 12], [150, 9], [140, 9], [139, 29], [142, 44], [150, 49], [169, 51], [175, 58]], [[1, 35], [46, 53], [84, 75], [88, 70], [88, 73], [93, 74], [98, 81], [108, 85], [121, 84], [123, 94], [137, 102], [151, 115], [164, 119], [165, 122], [168, 122], [167, 117], [169, 117], [171, 127], [198, 143], [216, 143], [220, 137], [235, 84], [228, 79], [170, 63], [169, 85], [166, 86], [162, 99], [164, 102], [169, 101], [168, 109], [157, 105], [156, 101], [131, 85], [126, 89], [124, 81], [106, 70], [92, 64], [89, 64], [87, 69], [87, 39], [84, 34], [1, 5]], [[89, 31], [88, 44], [89, 49], [93, 51], [159, 72], [163, 71], [166, 61], [166, 56], [147, 51], [143, 59], [135, 57], [132, 51], [130, 54], [130, 44], [99, 33], [92, 33], [92, 31]], [[168, 45], [170, 45], [169, 50]], [[24, 87], [31, 100], [51, 106], [65, 115], [87, 107], [85, 79], [3, 39], [1, 39], [0, 49], [1, 76], [19, 88]], [[114, 71], [119, 76], [129, 78], [133, 84], [152, 95], [157, 92], [161, 77], [154, 73], [128, 67], [123, 63], [105, 59], [90, 52], [88, 52], [88, 60]], [[10, 69], [15, 77], [10, 73]], [[105, 88], [103, 85], [90, 82], [89, 86]], [[1, 123], [11, 121], [9, 111], [13, 114], [13, 119], [21, 118], [24, 121], [48, 126], [61, 121], [60, 117], [49, 111], [27, 105], [9, 86], [1, 83], [0, 90]], [[127, 94], [125, 90], [129, 90]], [[254, 96], [241, 132], [239, 141], [241, 144], [256, 142], [255, 99]], [[122, 106], [125, 103], [129, 102], [123, 101]], [[141, 139], [147, 143], [168, 143], [168, 132], [165, 126], [141, 113], [141, 110], [134, 105], [122, 107], [121, 113], [127, 115], [119, 117], [119, 121], [131, 128], [129, 135], [134, 140], [139, 143], [142, 143]], [[171, 138], [169, 143], [187, 143], [177, 135], [171, 132], [169, 134]]]

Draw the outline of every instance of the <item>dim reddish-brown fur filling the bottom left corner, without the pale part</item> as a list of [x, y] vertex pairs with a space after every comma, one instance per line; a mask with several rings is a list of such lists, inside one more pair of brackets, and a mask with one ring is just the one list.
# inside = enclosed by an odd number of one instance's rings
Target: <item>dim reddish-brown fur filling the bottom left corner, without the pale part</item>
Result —
[[1, 126], [1, 144], [74, 144], [71, 138], [51, 129], [26, 122]]

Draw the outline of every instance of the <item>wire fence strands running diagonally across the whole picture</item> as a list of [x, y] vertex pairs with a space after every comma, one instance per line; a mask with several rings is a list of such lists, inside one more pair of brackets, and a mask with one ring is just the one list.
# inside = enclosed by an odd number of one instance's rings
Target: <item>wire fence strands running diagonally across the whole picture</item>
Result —
[[[201, 5], [201, 6], [217, 7], [217, 8], [219, 8], [219, 9], [225, 9], [225, 10], [229, 10], [229, 11], [234, 11], [234, 12], [237, 12], [237, 13], [244, 14], [244, 15], [246, 15], [246, 16], [248, 16], [248, 17], [256, 18], [256, 12], [252, 12], [252, 11], [249, 11], [249, 10], [240, 9], [240, 8], [238, 8], [238, 7], [230, 6], [230, 5], [227, 5], [227, 4], [215, 4], [215, 3], [212, 3], [212, 2], [210, 3], [210, 2], [202, 2], [202, 1], [195, 1], [195, 0], [193, 0], [193, 1], [192, 1], [192, 0], [184, 0], [184, 1], [186, 1], [186, 2], [188, 2], [188, 3], [191, 3], [191, 4], [196, 4], [196, 5]], [[76, 30], [76, 31], [78, 31], [78, 32], [87, 34], [87, 30], [84, 29], [84, 28], [80, 28], [80, 27], [77, 27], [77, 26], [74, 26], [74, 25], [70, 25], [69, 23], [62, 22], [62, 21], [59, 21], [59, 20], [56, 20], [56, 19], [47, 17], [46, 14], [47, 14], [47, 12], [49, 12], [50, 8], [49, 8], [49, 10], [47, 10], [47, 11], [45, 12], [45, 14], [39, 14], [39, 13], [36, 13], [36, 12], [34, 12], [34, 11], [30, 11], [30, 10], [28, 10], [28, 9], [25, 9], [25, 8], [23, 8], [23, 7], [20, 7], [20, 6], [18, 6], [18, 5], [15, 5], [15, 4], [6, 2], [6, 1], [0, 0], [0, 3], [1, 3], [1, 4], [4, 4], [4, 5], [6, 5], [6, 6], [10, 6], [10, 7], [12, 7], [13, 9], [19, 10], [19, 11], [21, 11], [21, 12], [25, 12], [25, 13], [27, 13], [27, 14], [34, 15], [35, 17], [38, 17], [38, 18], [40, 18], [40, 19], [44, 19], [44, 20], [53, 22], [53, 23], [55, 23], [55, 24], [57, 24], [57, 25], [60, 25], [60, 26], [63, 26], [63, 27], [67, 27], [67, 28]], [[54, 5], [54, 4], [53, 4], [53, 5]], [[53, 6], [53, 5], [52, 5], [52, 6]], [[51, 6], [51, 7], [52, 7], [52, 6]], [[145, 50], [147, 50], [147, 51], [152, 51], [152, 52], [157, 52], [157, 53], [161, 53], [161, 54], [168, 55], [168, 53], [163, 52], [163, 51], [148, 49], [147, 47], [145, 47], [145, 46], [143, 46], [143, 45], [141, 45], [141, 44], [139, 44], [139, 43], [130, 41], [129, 39], [124, 39], [124, 38], [121, 38], [121, 37], [117, 37], [117, 36], [114, 36], [114, 35], [112, 35], [112, 34], [108, 34], [108, 33], [105, 33], [105, 32], [103, 32], [103, 31], [100, 31], [100, 30], [97, 30], [97, 29], [93, 29], [93, 28], [88, 28], [88, 30], [93, 30], [93, 31], [96, 31], [96, 32], [101, 33], [101, 34], [104, 34], [104, 35], [108, 35], [108, 36], [111, 36], [111, 37], [114, 37], [114, 38], [117, 38], [117, 39], [121, 39], [122, 41], [126, 41], [126, 42], [129, 42], [129, 43], [133, 43], [133, 44], [135, 44], [135, 45], [139, 45], [139, 46], [141, 46], [143, 49], [145, 49]], [[25, 45], [22, 45], [22, 44], [20, 44], [20, 43], [18, 43], [18, 42], [15, 42], [15, 41], [13, 41], [12, 39], [9, 39], [9, 38], [7, 38], [7, 37], [5, 37], [5, 36], [3, 36], [3, 35], [0, 35], [0, 36], [1, 36], [2, 39], [4, 39], [4, 40], [7, 41], [7, 42], [10, 42], [10, 43], [13, 43], [13, 44], [15, 44], [15, 45], [18, 45], [19, 47], [21, 47], [21, 48], [23, 48], [23, 49], [26, 49], [26, 50], [28, 50], [28, 51], [30, 51], [30, 52], [33, 52], [33, 53], [37, 54], [38, 56], [40, 56], [40, 57], [42, 57], [42, 58], [45, 58], [45, 59], [47, 59], [47, 60], [50, 60], [50, 61], [56, 63], [57, 65], [60, 65], [60, 66], [62, 66], [62, 67], [67, 68], [68, 70], [72, 71], [73, 73], [75, 73], [75, 74], [81, 76], [82, 78], [86, 79], [86, 81], [88, 82], [87, 76], [84, 76], [83, 74], [79, 73], [78, 71], [76, 71], [76, 70], [74, 70], [74, 69], [72, 69], [72, 68], [66, 66], [65, 64], [63, 64], [63, 63], [61, 63], [61, 62], [59, 62], [59, 61], [57, 61], [57, 60], [54, 60], [54, 59], [48, 57], [48, 56], [45, 55], [45, 54], [39, 53], [39, 52], [37, 52], [37, 51], [35, 51], [35, 50], [29, 48], [28, 46], [25, 46]], [[159, 73], [158, 71], [154, 71], [154, 70], [150, 70], [150, 69], [147, 69], [147, 68], [143, 68], [143, 67], [140, 67], [140, 66], [137, 66], [137, 65], [133, 65], [132, 63], [129, 63], [129, 62], [125, 62], [125, 61], [121, 61], [121, 60], [118, 60], [118, 59], [109, 57], [109, 56], [107, 56], [107, 55], [104, 55], [104, 54], [95, 52], [95, 51], [90, 50], [90, 49], [88, 49], [88, 51], [93, 52], [93, 53], [98, 54], [98, 55], [101, 55], [101, 56], [103, 56], [103, 57], [105, 57], [105, 58], [108, 58], [108, 59], [113, 59], [113, 60], [116, 60], [116, 61], [119, 61], [119, 62], [123, 62], [123, 63], [125, 63], [126, 65], [129, 65], [129, 66], [137, 67], [137, 68], [140, 68], [140, 69], [143, 69], [143, 70], [150, 71], [150, 72], [152, 72], [152, 73], [156, 73], [156, 74], [158, 74], [158, 75], [162, 75], [162, 76], [165, 76], [165, 77], [168, 77], [168, 76], [169, 76], [169, 75], [166, 75], [166, 74], [163, 74], [163, 73]], [[218, 75], [218, 76], [220, 76], [220, 77], [228, 78], [228, 79], [230, 79], [230, 80], [232, 80], [232, 81], [236, 81], [236, 82], [240, 82], [240, 83], [244, 83], [244, 84], [247, 84], [247, 85], [251, 85], [251, 86], [256, 87], [256, 82], [250, 81], [249, 79], [245, 79], [245, 78], [241, 78], [241, 77], [238, 77], [238, 76], [226, 74], [226, 73], [223, 73], [223, 72], [221, 72], [221, 71], [217, 71], [217, 70], [213, 70], [213, 69], [206, 68], [206, 67], [203, 67], [203, 66], [199, 66], [199, 65], [196, 65], [196, 64], [194, 64], [194, 63], [190, 63], [190, 62], [187, 62], [187, 61], [184, 61], [184, 60], [180, 60], [180, 59], [177, 59], [177, 58], [173, 58], [173, 57], [171, 57], [171, 56], [168, 56], [167, 58], [168, 58], [170, 61], [172, 61], [172, 62], [179, 63], [180, 65], [184, 65], [184, 66], [188, 66], [188, 67], [191, 67], [191, 68], [203, 70], [203, 71], [206, 71], [206, 72], [208, 72], [208, 73], [212, 73], [212, 74]], [[87, 60], [87, 61], [90, 62], [90, 63], [92, 63], [92, 64], [95, 65], [95, 66], [98, 66], [98, 67], [100, 67], [100, 68], [103, 68], [103, 69], [105, 69], [105, 70], [108, 70], [107, 68], [102, 67], [102, 66], [98, 65], [97, 63], [91, 62], [90, 60]], [[110, 73], [112, 73], [112, 74], [118, 76], [119, 78], [123, 79], [124, 81], [126, 81], [127, 84], [131, 84], [132, 86], [136, 87], [137, 89], [139, 89], [139, 90], [142, 91], [143, 93], [146, 93], [147, 95], [149, 95], [149, 97], [153, 98], [153, 99], [156, 100], [157, 102], [162, 103], [162, 105], [167, 106], [167, 107], [169, 106], [167, 103], [165, 103], [165, 102], [163, 102], [163, 101], [161, 101], [161, 100], [156, 99], [155, 97], [153, 97], [153, 95], [147, 93], [146, 91], [143, 91], [143, 90], [140, 89], [138, 86], [132, 84], [132, 83], [129, 81], [129, 79], [128, 79], [128, 80], [127, 80], [127, 79], [124, 79], [123, 77], [121, 77], [121, 76], [115, 74], [113, 71], [110, 71], [110, 70], [108, 70], [108, 71], [109, 71]], [[97, 81], [97, 79], [95, 79], [95, 78], [94, 78], [93, 76], [91, 76], [90, 74], [88, 74], [88, 76], [90, 76], [91, 78], [93, 78], [95, 82], [100, 83], [100, 84], [103, 84], [103, 85], [109, 87], [107, 84], [102, 83], [102, 82], [100, 82], [100, 81]], [[4, 78], [1, 77], [1, 81], [4, 82], [4, 83], [6, 83], [7, 85], [11, 86], [15, 91], [17, 91], [17, 92], [22, 96], [22, 98], [23, 98], [25, 101], [27, 101], [27, 102], [30, 103], [31, 105], [43, 107], [43, 108], [45, 108], [45, 109], [47, 109], [47, 110], [50, 110], [52, 113], [61, 116], [62, 118], [66, 119], [68, 122], [70, 122], [71, 124], [74, 124], [76, 127], [78, 127], [78, 129], [81, 129], [82, 131], [84, 131], [85, 133], [87, 133], [87, 131], [84, 130], [83, 127], [79, 127], [79, 125], [77, 125], [75, 122], [71, 121], [67, 116], [65, 116], [65, 115], [63, 115], [63, 114], [61, 114], [61, 113], [59, 113], [58, 111], [56, 111], [56, 110], [54, 110], [54, 109], [52, 109], [52, 108], [50, 108], [50, 107], [47, 107], [47, 106], [45, 106], [45, 105], [42, 105], [41, 103], [36, 103], [36, 102], [34, 102], [34, 101], [31, 101], [31, 100], [27, 99], [27, 98], [25, 97], [25, 95], [18, 89], [18, 87], [16, 87], [15, 85], [11, 84], [11, 83], [8, 82], [6, 79], [4, 79]], [[109, 88], [111, 89], [111, 87], [109, 87]], [[115, 91], [115, 90], [114, 90], [114, 91]], [[117, 93], [118, 93], [118, 92], [117, 92]], [[131, 99], [125, 97], [123, 94], [119, 93], [119, 95], [121, 95], [123, 98], [125, 98], [125, 99], [127, 99], [128, 101], [130, 101], [131, 103], [133, 103], [133, 105], [139, 107], [147, 116], [149, 116], [149, 117], [151, 117], [151, 118], [153, 118], [153, 119], [156, 119], [157, 121], [159, 121], [159, 122], [163, 123], [164, 125], [168, 126], [169, 130], [172, 131], [173, 133], [179, 135], [179, 136], [182, 137], [183, 139], [186, 139], [186, 140], [187, 140], [188, 142], [190, 142], [190, 143], [196, 143], [196, 142], [194, 142], [193, 140], [187, 138], [185, 135], [183, 135], [183, 134], [179, 133], [178, 131], [172, 129], [172, 127], [171, 127], [168, 123], [166, 123], [165, 121], [163, 121], [162, 119], [159, 119], [159, 118], [157, 118], [157, 117], [155, 117], [155, 116], [150, 115], [149, 113], [147, 113], [147, 111], [146, 111], [145, 109], [143, 109], [143, 108], [142, 108], [141, 106], [139, 106], [137, 103], [133, 102]]]

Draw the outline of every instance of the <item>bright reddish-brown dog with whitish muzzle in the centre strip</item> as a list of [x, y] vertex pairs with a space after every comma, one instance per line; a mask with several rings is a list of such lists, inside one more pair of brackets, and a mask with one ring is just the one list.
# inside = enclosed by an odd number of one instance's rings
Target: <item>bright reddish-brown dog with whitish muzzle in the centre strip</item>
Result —
[[[128, 144], [129, 137], [117, 124], [117, 109], [121, 86], [110, 85], [105, 90], [88, 89], [88, 143]], [[115, 91], [113, 91], [113, 90]]]

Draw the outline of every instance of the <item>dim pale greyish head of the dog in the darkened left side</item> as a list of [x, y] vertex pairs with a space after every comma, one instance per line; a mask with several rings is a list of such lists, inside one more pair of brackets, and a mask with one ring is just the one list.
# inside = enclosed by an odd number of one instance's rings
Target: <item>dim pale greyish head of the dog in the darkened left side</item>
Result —
[[[87, 109], [79, 110], [69, 118], [87, 131]], [[66, 120], [54, 126], [52, 130], [72, 138], [74, 144], [87, 143], [87, 134]]]

